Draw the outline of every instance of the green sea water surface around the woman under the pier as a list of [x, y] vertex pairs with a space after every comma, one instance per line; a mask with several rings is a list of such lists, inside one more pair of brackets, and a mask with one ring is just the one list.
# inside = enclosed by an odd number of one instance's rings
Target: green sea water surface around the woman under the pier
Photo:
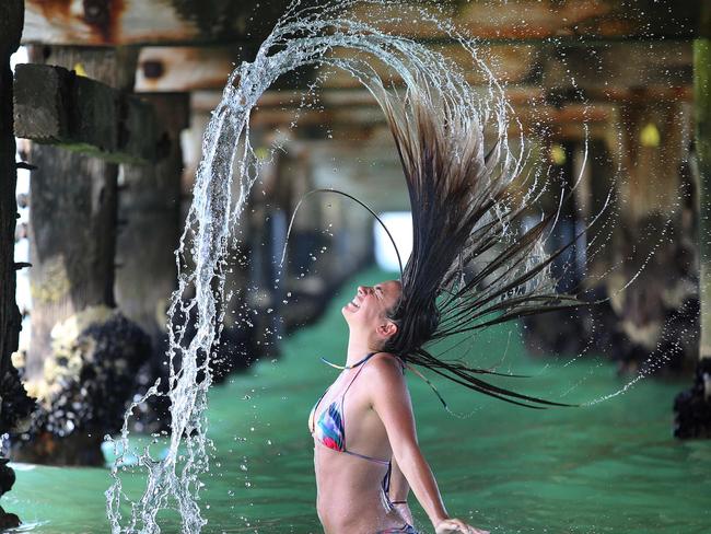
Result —
[[[372, 270], [358, 280], [382, 277]], [[291, 335], [279, 361], [213, 388], [215, 451], [205, 477], [203, 532], [319, 532], [306, 417], [334, 378], [318, 357], [343, 353], [339, 309], [353, 289], [346, 286], [317, 325]], [[512, 385], [551, 399], [574, 386], [562, 399], [587, 402], [625, 384], [598, 359], [563, 367], [526, 357], [515, 326], [479, 336], [470, 353], [482, 367], [505, 353], [502, 370], [535, 374]], [[711, 532], [711, 441], [671, 436], [672, 402], [686, 381], [645, 380], [591, 407], [545, 411], [442, 384], [453, 409], [471, 413], [466, 419], [447, 415], [420, 380], [409, 381], [421, 446], [451, 513], [497, 533]], [[25, 521], [22, 530], [108, 532], [106, 469], [15, 469], [2, 506]], [[141, 488], [130, 474], [125, 486], [132, 496]], [[420, 529], [432, 532], [421, 510], [415, 513]], [[176, 514], [162, 516], [164, 532], [179, 532]]]

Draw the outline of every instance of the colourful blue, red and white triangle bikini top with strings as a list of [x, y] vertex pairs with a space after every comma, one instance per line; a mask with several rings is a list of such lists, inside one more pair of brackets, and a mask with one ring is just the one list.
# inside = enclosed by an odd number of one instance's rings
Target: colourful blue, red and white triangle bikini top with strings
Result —
[[[358, 375], [365, 367], [365, 363], [368, 363], [368, 361], [373, 356], [375, 356], [375, 352], [371, 352], [358, 363], [354, 363], [352, 365], [347, 365], [345, 368], [340, 368], [340, 369], [354, 369], [359, 367], [360, 369], [356, 373], [356, 376], [353, 376], [353, 379], [350, 381], [350, 383], [343, 391], [343, 394], [340, 396], [340, 398], [337, 398], [336, 400], [330, 403], [328, 408], [324, 409], [320, 413], [320, 416], [318, 416], [318, 420], [316, 420], [316, 410], [318, 409], [318, 405], [320, 404], [326, 393], [328, 393], [328, 390], [330, 390], [330, 387], [324, 392], [324, 394], [318, 398], [318, 400], [316, 400], [316, 405], [312, 410], [312, 417], [310, 418], [312, 422], [311, 433], [316, 440], [318, 440], [324, 446], [327, 446], [328, 449], [338, 452], [345, 452], [346, 454], [350, 454], [351, 456], [357, 456], [359, 458], [363, 458], [370, 462], [375, 462], [382, 465], [389, 466], [391, 463], [389, 460], [374, 458], [372, 456], [359, 454], [357, 452], [349, 451], [348, 449], [346, 449], [346, 419], [343, 417], [345, 414], [343, 399], [346, 398], [346, 393], [348, 393], [348, 390], [350, 390], [350, 386], [353, 385], [353, 382], [356, 382], [356, 379], [358, 379]], [[326, 360], [324, 361], [330, 365], [338, 367], [330, 363], [329, 361]]]

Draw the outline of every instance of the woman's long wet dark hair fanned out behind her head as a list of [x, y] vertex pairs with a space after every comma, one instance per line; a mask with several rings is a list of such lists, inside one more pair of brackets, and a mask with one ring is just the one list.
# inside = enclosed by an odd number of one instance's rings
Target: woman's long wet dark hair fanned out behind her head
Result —
[[478, 117], [462, 115], [426, 84], [410, 85], [404, 97], [374, 94], [395, 139], [413, 229], [401, 297], [388, 313], [398, 329], [382, 349], [502, 400], [561, 405], [493, 385], [481, 375], [500, 373], [428, 349], [457, 334], [580, 304], [557, 293], [550, 277], [551, 262], [566, 248], [544, 253], [555, 213], [522, 229], [533, 197], [512, 175], [501, 139], [485, 152]]

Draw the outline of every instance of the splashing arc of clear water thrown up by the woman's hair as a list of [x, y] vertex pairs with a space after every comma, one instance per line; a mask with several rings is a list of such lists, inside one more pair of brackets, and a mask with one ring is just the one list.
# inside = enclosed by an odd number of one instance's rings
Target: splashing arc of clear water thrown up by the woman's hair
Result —
[[[371, 11], [376, 13], [380, 7], [398, 2], [343, 0], [310, 8], [294, 1], [260, 46], [255, 60], [243, 62], [231, 74], [222, 101], [212, 112], [203, 136], [194, 201], [176, 251], [178, 289], [168, 310], [167, 392], [159, 392], [159, 384], [155, 384], [143, 398], [133, 403], [120, 438], [113, 442], [117, 460], [106, 499], [114, 534], [158, 534], [161, 532], [158, 513], [164, 509], [180, 514], [184, 533], [199, 533], [207, 523], [198, 506], [199, 476], [209, 468], [208, 449], [211, 443], [206, 436], [206, 408], [211, 378], [208, 364], [210, 351], [220, 335], [215, 324], [222, 320], [218, 304], [224, 299], [222, 269], [231, 240], [236, 240], [234, 230], [240, 224], [260, 166], [249, 143], [250, 111], [275, 80], [307, 65], [338, 68], [360, 80], [375, 100], [385, 105], [388, 94], [403, 90], [383, 81], [373, 67], [374, 61], [380, 61], [399, 77], [406, 88], [405, 98], [408, 91], [428, 88], [430, 93], [436, 94], [426, 94], [426, 97], [438, 100], [450, 116], [462, 124], [490, 127], [496, 137], [494, 150], [501, 156], [502, 172], [511, 178], [522, 174], [524, 156], [509, 148], [508, 127], [514, 120], [511, 106], [501, 85], [478, 58], [475, 43], [458, 35], [451, 24], [438, 22], [423, 11], [420, 13], [422, 20], [440, 24], [453, 42], [458, 42], [469, 53], [470, 68], [489, 80], [483, 96], [470, 88], [461, 69], [440, 53], [409, 38], [378, 31], [376, 14], [373, 15], [374, 22], [368, 23], [347, 19], [343, 13], [356, 4], [370, 4], [373, 7]], [[407, 8], [415, 9], [411, 5]], [[337, 48], [351, 55], [333, 55]], [[456, 158], [457, 154], [452, 155]], [[237, 188], [233, 187], [235, 161]], [[534, 175], [534, 188], [537, 178]], [[234, 193], [236, 200], [233, 202]], [[528, 198], [526, 193], [524, 201]], [[497, 217], [498, 209], [510, 208], [494, 206], [492, 217]], [[186, 257], [190, 258], [189, 263]], [[188, 264], [193, 267], [185, 267]], [[185, 295], [191, 291], [194, 297], [186, 300]], [[197, 317], [197, 324], [195, 334], [188, 339], [187, 329], [178, 325], [190, 316]], [[121, 465], [129, 453], [128, 419], [138, 404], [158, 395], [166, 395], [171, 400], [170, 446], [166, 457], [161, 461], [154, 460], [148, 448], [139, 455], [139, 465], [147, 471], [148, 480], [142, 497], [131, 502], [123, 490], [120, 478]], [[130, 518], [121, 516], [123, 502], [130, 503]]]

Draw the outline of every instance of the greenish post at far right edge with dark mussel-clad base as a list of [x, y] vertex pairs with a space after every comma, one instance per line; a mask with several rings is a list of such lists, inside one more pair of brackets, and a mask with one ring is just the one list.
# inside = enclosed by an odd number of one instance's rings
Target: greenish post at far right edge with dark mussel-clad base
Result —
[[711, 438], [711, 4], [704, 2], [693, 43], [696, 154], [699, 177], [701, 340], [695, 383], [674, 403], [674, 436]]

